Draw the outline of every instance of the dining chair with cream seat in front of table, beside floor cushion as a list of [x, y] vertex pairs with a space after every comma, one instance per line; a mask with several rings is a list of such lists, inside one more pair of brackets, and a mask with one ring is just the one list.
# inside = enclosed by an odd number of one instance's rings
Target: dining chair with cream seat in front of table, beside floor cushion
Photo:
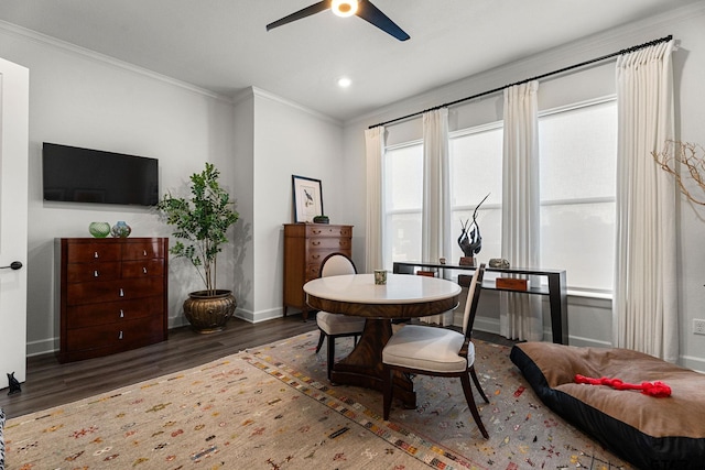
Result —
[[475, 405], [470, 378], [485, 403], [489, 403], [475, 372], [475, 346], [470, 340], [477, 304], [482, 289], [485, 264], [475, 270], [463, 314], [463, 332], [447, 328], [405, 325], [394, 332], [382, 350], [383, 417], [389, 419], [394, 371], [416, 375], [459, 378], [467, 405], [482, 436], [489, 434]]

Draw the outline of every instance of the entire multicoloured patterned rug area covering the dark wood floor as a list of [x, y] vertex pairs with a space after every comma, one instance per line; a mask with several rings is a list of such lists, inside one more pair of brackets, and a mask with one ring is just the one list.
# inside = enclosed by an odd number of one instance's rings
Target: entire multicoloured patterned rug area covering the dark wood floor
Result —
[[[417, 376], [415, 411], [329, 386], [317, 332], [10, 419], [8, 469], [630, 469], [544, 408], [509, 361], [476, 342], [490, 433], [459, 382]], [[351, 340], [339, 339], [346, 354]]]

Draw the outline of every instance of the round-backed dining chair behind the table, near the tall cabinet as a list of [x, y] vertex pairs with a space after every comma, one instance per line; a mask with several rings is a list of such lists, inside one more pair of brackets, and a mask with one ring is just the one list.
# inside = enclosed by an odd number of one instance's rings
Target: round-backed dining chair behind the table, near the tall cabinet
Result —
[[[332, 253], [321, 263], [321, 277], [339, 276], [344, 274], [357, 274], [357, 269], [352, 260], [343, 253]], [[321, 330], [316, 353], [321, 351], [323, 340], [328, 337], [328, 380], [330, 380], [330, 370], [335, 361], [335, 339], [351, 336], [354, 337], [354, 342], [357, 343], [359, 336], [365, 329], [365, 318], [318, 311], [316, 314], [316, 324]]]

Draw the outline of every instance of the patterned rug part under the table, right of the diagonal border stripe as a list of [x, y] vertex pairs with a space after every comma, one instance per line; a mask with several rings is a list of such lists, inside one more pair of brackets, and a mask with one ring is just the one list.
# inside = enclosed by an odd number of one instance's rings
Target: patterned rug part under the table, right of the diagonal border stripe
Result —
[[[261, 363], [280, 368], [300, 382], [328, 384], [325, 346], [314, 353], [317, 340], [318, 332], [314, 331], [252, 352]], [[365, 409], [381, 429], [397, 433], [395, 437], [387, 437], [391, 444], [412, 449], [438, 469], [633, 468], [546, 408], [510, 361], [510, 347], [478, 340], [474, 343], [476, 370], [490, 403], [486, 404], [477, 393], [475, 402], [489, 440], [475, 425], [459, 380], [417, 375], [416, 409], [404, 409], [394, 402], [388, 423], [381, 417], [380, 392], [337, 385], [326, 387], [326, 393], [350, 406], [355, 404], [356, 409]], [[338, 339], [337, 359], [351, 348], [350, 338]]]

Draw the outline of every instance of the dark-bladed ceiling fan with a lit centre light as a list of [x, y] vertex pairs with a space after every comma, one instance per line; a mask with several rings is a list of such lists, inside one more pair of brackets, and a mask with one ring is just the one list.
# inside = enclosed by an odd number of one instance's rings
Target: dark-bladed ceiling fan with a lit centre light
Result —
[[292, 13], [288, 17], [276, 20], [267, 25], [267, 31], [282, 26], [296, 20], [301, 20], [312, 14], [330, 9], [338, 17], [358, 15], [368, 23], [373, 24], [388, 34], [397, 37], [399, 41], [406, 41], [410, 36], [397, 25], [392, 20], [382, 13], [369, 0], [323, 0]]

